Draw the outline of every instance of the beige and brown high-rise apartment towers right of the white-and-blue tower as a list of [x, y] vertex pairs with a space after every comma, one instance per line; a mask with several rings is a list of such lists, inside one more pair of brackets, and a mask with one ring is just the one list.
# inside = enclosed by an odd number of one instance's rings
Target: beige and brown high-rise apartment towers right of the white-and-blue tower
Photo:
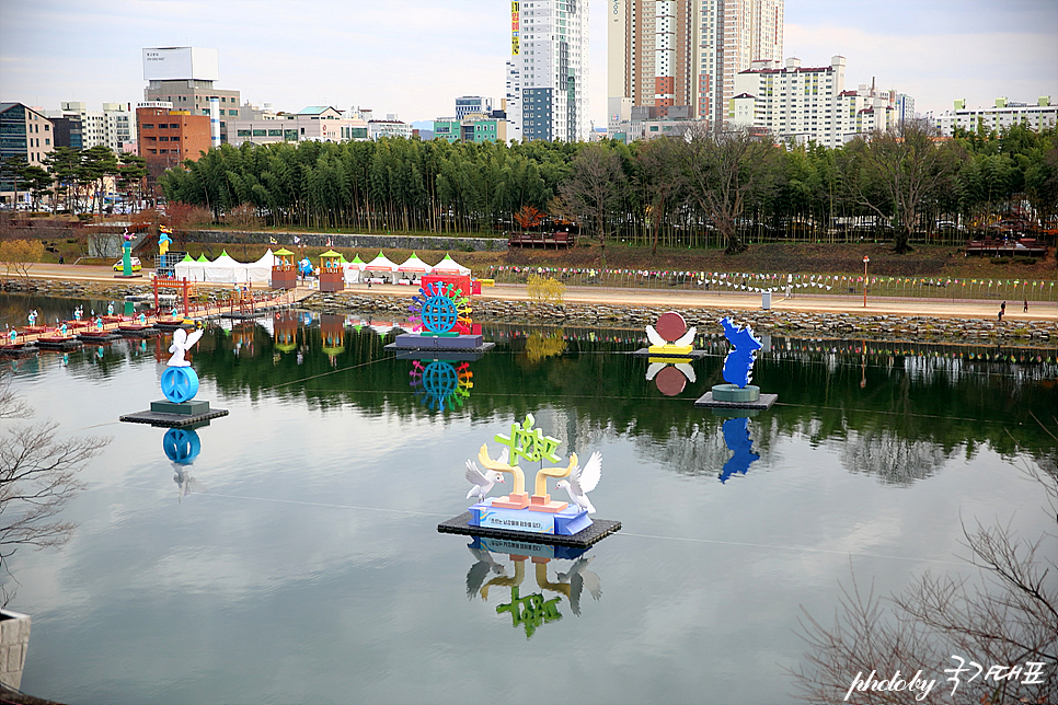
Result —
[[782, 56], [783, 0], [608, 0], [608, 123], [631, 108], [720, 124], [735, 76]]

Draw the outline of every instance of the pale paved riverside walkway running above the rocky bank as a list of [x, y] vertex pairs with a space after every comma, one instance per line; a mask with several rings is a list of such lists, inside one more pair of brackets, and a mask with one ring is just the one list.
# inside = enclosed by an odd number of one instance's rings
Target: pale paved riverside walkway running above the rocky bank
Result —
[[[150, 273], [143, 269], [142, 279], [124, 280], [130, 285], [150, 285]], [[114, 271], [110, 267], [85, 265], [34, 265], [30, 276], [41, 279], [59, 279], [68, 281], [100, 281], [115, 282]], [[222, 286], [222, 285], [218, 285]], [[255, 285], [255, 289], [267, 289], [266, 285]], [[299, 287], [295, 298], [300, 300], [314, 290]], [[346, 289], [349, 293], [366, 296], [409, 296], [410, 287], [398, 285], [375, 285], [370, 289], [366, 285], [357, 284]], [[482, 289], [485, 299], [509, 301], [527, 301], [526, 287], [521, 285], [499, 285]], [[609, 289], [603, 287], [568, 287], [565, 300], [570, 303], [597, 303], [610, 305], [642, 305], [642, 307], [672, 307], [672, 308], [716, 308], [758, 310], [761, 304], [759, 293], [735, 293], [727, 291], [649, 291], [643, 289]], [[888, 315], [929, 315], [948, 319], [997, 319], [999, 303], [996, 301], [951, 301], [947, 299], [896, 299], [874, 298], [867, 294], [867, 305], [863, 307], [863, 299], [849, 296], [818, 296], [795, 293], [791, 299], [784, 299], [782, 292], [772, 296], [772, 310], [851, 313], [858, 315], [888, 314]], [[1028, 303], [1028, 313], [1022, 311], [1021, 301], [1008, 301], [1008, 321], [1054, 321], [1058, 324], [1058, 303]]]

